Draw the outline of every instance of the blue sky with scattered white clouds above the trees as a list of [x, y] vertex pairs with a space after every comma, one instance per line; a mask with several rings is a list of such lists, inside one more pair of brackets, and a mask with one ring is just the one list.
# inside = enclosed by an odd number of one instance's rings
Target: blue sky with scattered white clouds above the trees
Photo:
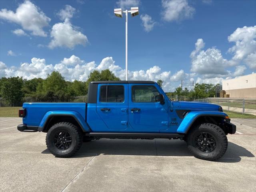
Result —
[[0, 75], [87, 80], [110, 69], [125, 78], [125, 19], [114, 8], [139, 6], [128, 18], [128, 78], [221, 83], [256, 70], [256, 1], [0, 1]]

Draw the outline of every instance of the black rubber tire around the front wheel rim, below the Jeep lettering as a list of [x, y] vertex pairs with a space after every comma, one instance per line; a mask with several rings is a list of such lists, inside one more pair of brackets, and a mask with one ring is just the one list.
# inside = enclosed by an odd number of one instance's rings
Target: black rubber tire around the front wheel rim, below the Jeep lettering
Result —
[[[201, 152], [198, 148], [193, 146], [193, 142], [194, 142], [193, 134], [195, 134], [198, 131], [209, 131], [211, 132], [211, 134], [214, 134], [214, 137], [216, 137], [218, 140], [218, 143], [217, 143], [218, 146], [216, 146], [214, 151], [210, 153]], [[209, 160], [209, 161], [215, 161], [221, 158], [225, 154], [228, 148], [228, 138], [226, 137], [225, 132], [219, 126], [212, 123], [203, 123], [198, 126], [195, 126], [189, 131], [188, 136], [186, 136], [186, 140], [188, 144], [188, 150], [192, 154], [194, 154], [196, 158]], [[219, 145], [221, 147], [219, 147]]]

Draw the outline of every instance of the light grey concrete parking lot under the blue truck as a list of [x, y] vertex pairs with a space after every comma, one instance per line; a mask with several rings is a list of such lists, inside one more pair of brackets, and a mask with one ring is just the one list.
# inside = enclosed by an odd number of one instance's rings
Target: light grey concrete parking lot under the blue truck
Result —
[[45, 133], [19, 132], [0, 118], [0, 191], [256, 191], [256, 119], [232, 119], [228, 150], [196, 159], [180, 140], [101, 139], [72, 158], [55, 158]]

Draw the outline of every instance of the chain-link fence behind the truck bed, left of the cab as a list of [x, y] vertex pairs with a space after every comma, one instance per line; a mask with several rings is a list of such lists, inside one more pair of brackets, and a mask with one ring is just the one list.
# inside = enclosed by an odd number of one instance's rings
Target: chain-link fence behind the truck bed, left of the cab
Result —
[[40, 99], [40, 98], [26, 97], [26, 98], [22, 98], [21, 102], [14, 102], [10, 104], [6, 102], [4, 98], [0, 98], [0, 107], [22, 106], [22, 104], [25, 102], [86, 102], [86, 101], [87, 101], [87, 96], [77, 96], [77, 97], [70, 97], [66, 99], [59, 99], [59, 98]]

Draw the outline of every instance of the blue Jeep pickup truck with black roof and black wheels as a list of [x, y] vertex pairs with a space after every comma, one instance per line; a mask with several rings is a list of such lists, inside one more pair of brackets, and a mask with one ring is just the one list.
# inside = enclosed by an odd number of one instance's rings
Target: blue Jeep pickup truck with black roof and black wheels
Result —
[[100, 138], [180, 139], [196, 158], [217, 160], [236, 126], [221, 106], [171, 101], [152, 81], [91, 82], [87, 103], [24, 103], [19, 131], [47, 132], [56, 157], [70, 157], [82, 142]]

